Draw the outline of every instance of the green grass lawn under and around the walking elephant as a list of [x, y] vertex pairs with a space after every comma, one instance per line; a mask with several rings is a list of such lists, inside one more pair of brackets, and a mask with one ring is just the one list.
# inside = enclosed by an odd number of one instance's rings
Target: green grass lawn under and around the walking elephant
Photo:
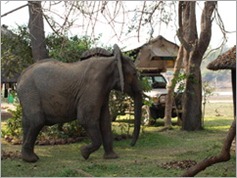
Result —
[[[209, 105], [212, 105], [210, 108], [213, 110], [219, 107], [218, 104], [208, 104], [208, 107]], [[162, 168], [162, 163], [187, 159], [198, 162], [217, 155], [233, 120], [230, 104], [226, 105], [226, 110], [228, 111], [219, 117], [209, 111], [205, 118], [205, 129], [202, 131], [186, 132], [174, 126], [172, 130], [159, 132], [160, 126], [145, 127], [134, 147], [129, 146], [130, 139], [114, 141], [114, 150], [120, 156], [115, 160], [104, 160], [102, 147], [88, 160], [84, 160], [79, 149], [88, 143], [88, 140], [69, 145], [36, 146], [35, 151], [40, 157], [37, 163], [26, 163], [20, 159], [2, 160], [1, 175], [3, 177], [178, 177], [185, 170], [165, 169]], [[175, 122], [173, 119], [173, 123]], [[162, 120], [158, 120], [156, 125], [162, 123]], [[119, 132], [118, 128], [116, 132]], [[3, 141], [2, 150], [20, 151], [20, 146], [9, 145]], [[197, 176], [235, 177], [235, 153], [231, 152], [231, 156], [230, 161], [215, 164]]]

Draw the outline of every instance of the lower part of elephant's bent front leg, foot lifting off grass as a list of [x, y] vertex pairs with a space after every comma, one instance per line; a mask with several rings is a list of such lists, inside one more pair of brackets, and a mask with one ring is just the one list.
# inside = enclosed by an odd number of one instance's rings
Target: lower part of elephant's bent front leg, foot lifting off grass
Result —
[[91, 153], [100, 148], [102, 144], [102, 138], [98, 122], [93, 123], [92, 121], [92, 123], [87, 124], [84, 128], [89, 135], [92, 143], [81, 147], [81, 154], [84, 159], [88, 159]]

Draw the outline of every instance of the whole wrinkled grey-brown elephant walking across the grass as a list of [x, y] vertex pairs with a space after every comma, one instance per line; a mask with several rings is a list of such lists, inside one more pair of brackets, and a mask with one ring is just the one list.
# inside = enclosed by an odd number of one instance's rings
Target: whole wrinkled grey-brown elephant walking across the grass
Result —
[[81, 148], [85, 159], [101, 144], [105, 159], [117, 158], [108, 106], [112, 89], [124, 90], [134, 99], [133, 146], [140, 131], [142, 92], [133, 63], [122, 56], [117, 45], [112, 57], [92, 57], [75, 63], [47, 59], [28, 67], [17, 85], [23, 108], [22, 159], [27, 162], [39, 159], [34, 153], [34, 144], [43, 126], [75, 119], [91, 139], [91, 144]]

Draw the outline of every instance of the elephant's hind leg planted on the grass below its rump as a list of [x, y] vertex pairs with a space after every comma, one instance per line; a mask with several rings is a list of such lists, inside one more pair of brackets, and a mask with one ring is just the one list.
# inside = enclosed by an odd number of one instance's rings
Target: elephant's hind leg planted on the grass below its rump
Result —
[[27, 162], [36, 162], [39, 157], [34, 153], [34, 144], [36, 138], [43, 128], [42, 114], [36, 113], [30, 116], [23, 116], [23, 144], [22, 159]]

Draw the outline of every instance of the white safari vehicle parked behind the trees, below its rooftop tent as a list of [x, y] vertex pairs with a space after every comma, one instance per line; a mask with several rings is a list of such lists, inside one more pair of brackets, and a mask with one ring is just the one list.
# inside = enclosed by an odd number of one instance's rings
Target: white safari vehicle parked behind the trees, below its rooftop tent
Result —
[[[150, 98], [151, 105], [143, 105], [144, 125], [152, 125], [158, 118], [165, 116], [165, 103], [167, 97], [168, 81], [161, 73], [142, 73], [142, 79], [146, 79], [152, 90], [144, 94]], [[182, 117], [182, 93], [175, 92], [172, 104], [172, 117]]]

